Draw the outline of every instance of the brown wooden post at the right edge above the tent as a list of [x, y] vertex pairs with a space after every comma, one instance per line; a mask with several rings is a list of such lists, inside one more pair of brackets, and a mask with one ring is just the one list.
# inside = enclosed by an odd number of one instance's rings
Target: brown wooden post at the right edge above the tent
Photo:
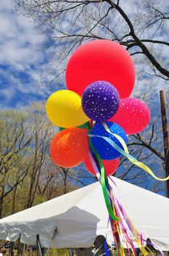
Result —
[[[164, 91], [160, 91], [161, 113], [162, 113], [162, 131], [165, 152], [165, 176], [169, 176], [169, 134], [168, 118]], [[166, 181], [166, 196], [169, 198], [169, 180]]]

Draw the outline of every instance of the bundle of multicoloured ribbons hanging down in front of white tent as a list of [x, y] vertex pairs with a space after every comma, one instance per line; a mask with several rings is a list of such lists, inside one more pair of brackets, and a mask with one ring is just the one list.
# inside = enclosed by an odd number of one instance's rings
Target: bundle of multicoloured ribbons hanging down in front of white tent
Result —
[[[119, 256], [125, 255], [124, 247], [122, 245], [121, 241], [121, 231], [123, 235], [125, 236], [125, 239], [128, 244], [130, 244], [130, 248], [133, 252], [133, 255], [136, 255], [135, 248], [133, 245], [133, 241], [130, 238], [130, 236], [127, 234], [127, 230], [125, 228], [125, 225], [123, 222], [130, 223], [129, 219], [127, 220], [127, 216], [124, 214], [124, 210], [122, 209], [122, 206], [120, 206], [119, 203], [117, 203], [117, 199], [114, 197], [112, 193], [112, 188], [109, 185], [109, 180], [106, 176], [103, 163], [101, 162], [101, 157], [98, 155], [97, 151], [95, 151], [95, 148], [93, 147], [93, 143], [91, 142], [91, 139], [89, 138], [90, 148], [93, 152], [89, 152], [90, 161], [93, 165], [93, 168], [95, 170], [95, 173], [98, 177], [98, 180], [101, 182], [101, 186], [103, 189], [103, 195], [106, 202], [107, 209], [109, 211], [110, 216], [110, 223], [111, 223], [111, 229], [112, 233], [114, 235], [114, 243], [117, 247], [117, 252]], [[93, 155], [94, 153], [94, 155]], [[95, 157], [98, 162], [95, 162]], [[117, 186], [116, 186], [117, 187]], [[119, 207], [120, 206], [120, 207]], [[121, 227], [120, 227], [121, 226]], [[135, 236], [134, 241], [137, 242], [139, 248], [141, 249], [141, 252], [144, 256], [146, 256], [148, 253], [146, 252], [146, 249], [144, 249], [144, 246], [142, 246], [140, 238], [138, 236], [137, 231], [135, 230], [135, 227], [130, 223], [129, 230], [132, 231], [133, 235]]]

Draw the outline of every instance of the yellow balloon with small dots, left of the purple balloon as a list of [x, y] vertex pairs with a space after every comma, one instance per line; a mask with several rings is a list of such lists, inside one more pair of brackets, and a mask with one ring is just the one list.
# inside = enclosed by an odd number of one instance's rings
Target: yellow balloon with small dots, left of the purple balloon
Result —
[[82, 100], [74, 91], [56, 91], [47, 99], [47, 116], [58, 127], [78, 127], [90, 120], [82, 110]]

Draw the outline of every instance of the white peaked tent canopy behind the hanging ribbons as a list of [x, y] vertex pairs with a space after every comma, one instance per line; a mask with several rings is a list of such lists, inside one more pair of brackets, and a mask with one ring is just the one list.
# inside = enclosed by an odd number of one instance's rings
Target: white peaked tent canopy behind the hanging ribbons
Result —
[[[169, 200], [114, 178], [122, 205], [138, 232], [163, 250], [169, 250]], [[56, 197], [46, 203], [0, 220], [0, 239], [15, 241], [21, 234], [24, 244], [80, 248], [93, 245], [96, 236], [106, 236], [108, 214], [101, 185], [96, 182]], [[52, 235], [57, 227], [55, 239]], [[108, 234], [109, 240], [111, 233]], [[52, 244], [51, 244], [52, 241]]]

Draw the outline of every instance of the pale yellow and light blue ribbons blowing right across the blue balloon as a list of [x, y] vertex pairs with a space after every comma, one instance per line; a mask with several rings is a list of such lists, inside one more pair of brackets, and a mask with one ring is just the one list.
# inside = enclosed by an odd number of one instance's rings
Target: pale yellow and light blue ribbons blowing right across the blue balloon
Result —
[[112, 133], [106, 123], [103, 122], [102, 124], [103, 124], [103, 127], [106, 129], [106, 132], [109, 132], [111, 135], [113, 135], [115, 138], [117, 138], [117, 140], [119, 140], [119, 143], [122, 144], [122, 147], [124, 148], [124, 150], [122, 148], [120, 148], [117, 145], [117, 143], [114, 143], [113, 140], [111, 140], [110, 138], [107, 138], [105, 136], [90, 135], [90, 134], [88, 136], [90, 138], [93, 138], [93, 137], [103, 138], [104, 140], [106, 140], [107, 143], [109, 143], [112, 147], [114, 147], [117, 151], [119, 151], [123, 156], [127, 157], [127, 159], [129, 159], [130, 162], [132, 162], [134, 165], [140, 167], [141, 169], [145, 170], [157, 181], [168, 181], [169, 176], [166, 178], [158, 178], [157, 176], [154, 175], [152, 170], [147, 165], [144, 165], [144, 163], [142, 163], [142, 162], [138, 162], [138, 160], [135, 159], [135, 157], [131, 156], [128, 152], [127, 145], [126, 145], [125, 141], [119, 135]]

